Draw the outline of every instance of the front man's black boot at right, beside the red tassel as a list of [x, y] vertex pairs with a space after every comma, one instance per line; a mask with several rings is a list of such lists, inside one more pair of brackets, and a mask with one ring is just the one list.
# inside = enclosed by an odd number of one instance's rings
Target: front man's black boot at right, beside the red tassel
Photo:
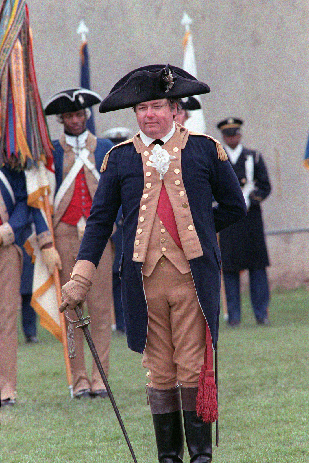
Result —
[[212, 460], [212, 425], [204, 423], [196, 413], [197, 394], [198, 388], [181, 388], [185, 440], [191, 457], [190, 463], [210, 463]]

